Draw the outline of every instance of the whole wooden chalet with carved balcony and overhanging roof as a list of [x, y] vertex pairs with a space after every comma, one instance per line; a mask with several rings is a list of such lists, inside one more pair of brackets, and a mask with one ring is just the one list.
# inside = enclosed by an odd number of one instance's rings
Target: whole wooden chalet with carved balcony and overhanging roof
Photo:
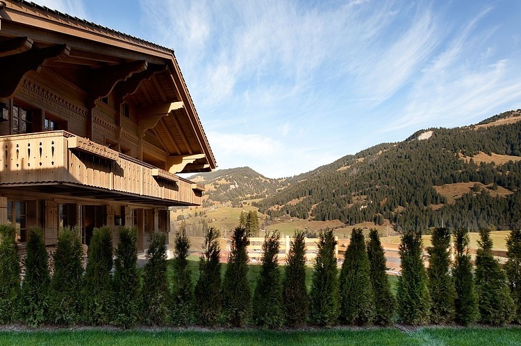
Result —
[[215, 158], [174, 52], [21, 0], [0, 0], [0, 223], [169, 231]]

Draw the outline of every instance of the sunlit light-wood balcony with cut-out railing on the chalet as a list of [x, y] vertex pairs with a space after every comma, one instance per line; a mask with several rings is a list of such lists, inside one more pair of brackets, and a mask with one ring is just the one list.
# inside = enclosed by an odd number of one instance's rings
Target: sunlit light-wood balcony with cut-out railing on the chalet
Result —
[[0, 137], [0, 188], [137, 204], [200, 205], [204, 187], [65, 131]]

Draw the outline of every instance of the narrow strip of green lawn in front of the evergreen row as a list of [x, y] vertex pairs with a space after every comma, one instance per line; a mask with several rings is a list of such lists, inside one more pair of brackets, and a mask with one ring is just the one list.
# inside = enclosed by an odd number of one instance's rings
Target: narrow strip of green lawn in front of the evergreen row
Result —
[[0, 331], [1, 345], [521, 345], [521, 329]]

